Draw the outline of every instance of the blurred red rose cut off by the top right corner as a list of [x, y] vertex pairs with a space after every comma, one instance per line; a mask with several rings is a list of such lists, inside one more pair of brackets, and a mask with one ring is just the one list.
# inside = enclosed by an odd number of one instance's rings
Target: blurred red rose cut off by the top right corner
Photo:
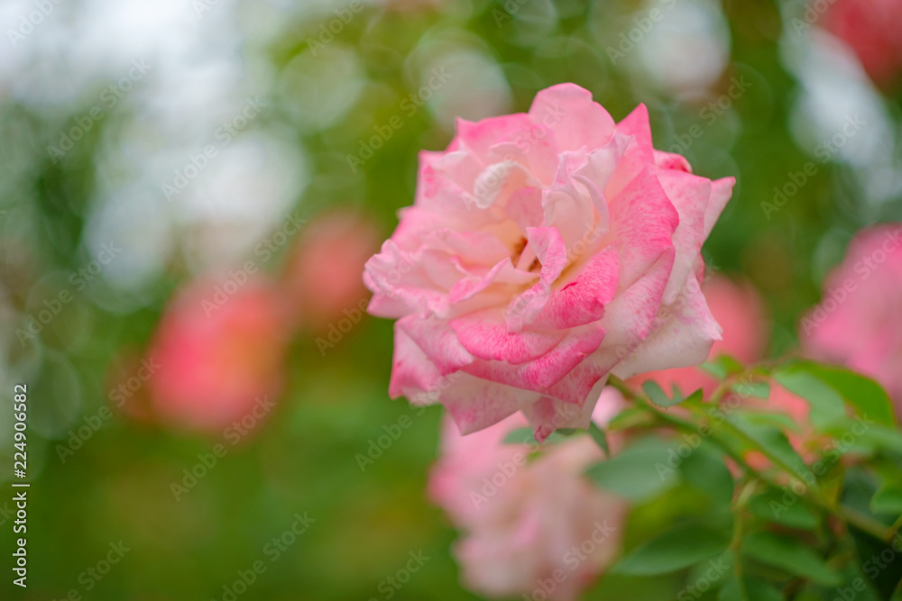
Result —
[[[824, 4], [825, 0], [820, 0], [810, 6]], [[824, 28], [849, 44], [875, 83], [890, 87], [898, 82], [902, 72], [902, 2], [836, 0], [823, 18]]]

